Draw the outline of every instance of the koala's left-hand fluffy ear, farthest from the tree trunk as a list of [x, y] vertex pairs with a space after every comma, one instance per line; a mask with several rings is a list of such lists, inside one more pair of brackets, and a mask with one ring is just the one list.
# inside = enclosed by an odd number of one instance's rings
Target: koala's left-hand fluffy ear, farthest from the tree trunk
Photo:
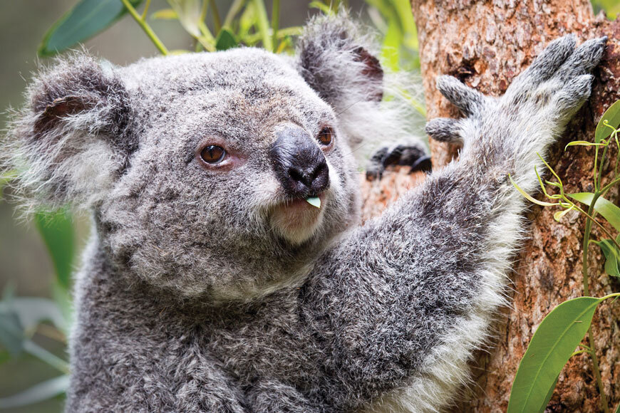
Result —
[[41, 70], [26, 96], [0, 142], [3, 163], [18, 174], [14, 187], [32, 206], [90, 206], [105, 197], [137, 146], [115, 70], [76, 53]]

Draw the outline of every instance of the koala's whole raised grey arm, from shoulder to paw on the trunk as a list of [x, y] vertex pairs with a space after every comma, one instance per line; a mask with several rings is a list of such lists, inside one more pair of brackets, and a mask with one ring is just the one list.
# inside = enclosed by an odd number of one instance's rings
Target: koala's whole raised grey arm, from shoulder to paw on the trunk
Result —
[[605, 41], [554, 41], [499, 99], [440, 79], [466, 117], [433, 120], [428, 132], [462, 140], [460, 161], [335, 244], [300, 291], [329, 355], [324, 391], [334, 405], [436, 412], [466, 381], [523, 229], [525, 203], [507, 175], [534, 189], [536, 152], [588, 98]]

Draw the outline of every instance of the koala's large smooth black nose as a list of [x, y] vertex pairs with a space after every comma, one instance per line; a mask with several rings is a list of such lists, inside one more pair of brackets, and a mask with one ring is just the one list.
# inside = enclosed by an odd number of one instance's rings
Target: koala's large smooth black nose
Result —
[[315, 197], [329, 188], [329, 168], [319, 149], [301, 127], [286, 127], [269, 149], [274, 171], [286, 195]]

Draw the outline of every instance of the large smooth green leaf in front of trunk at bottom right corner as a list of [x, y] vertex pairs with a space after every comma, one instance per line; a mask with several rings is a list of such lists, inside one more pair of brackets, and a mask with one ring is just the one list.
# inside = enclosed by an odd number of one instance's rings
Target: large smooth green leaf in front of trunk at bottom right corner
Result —
[[520, 362], [507, 413], [544, 411], [559, 373], [584, 338], [601, 301], [593, 297], [574, 298], [547, 314]]

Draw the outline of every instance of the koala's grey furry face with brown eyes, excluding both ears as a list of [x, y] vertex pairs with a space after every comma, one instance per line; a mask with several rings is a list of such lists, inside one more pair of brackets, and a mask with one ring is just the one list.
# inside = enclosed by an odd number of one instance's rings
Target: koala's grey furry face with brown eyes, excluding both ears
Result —
[[98, 212], [111, 253], [139, 276], [252, 295], [307, 271], [356, 221], [347, 137], [288, 61], [237, 49], [142, 61], [120, 78], [138, 145]]

